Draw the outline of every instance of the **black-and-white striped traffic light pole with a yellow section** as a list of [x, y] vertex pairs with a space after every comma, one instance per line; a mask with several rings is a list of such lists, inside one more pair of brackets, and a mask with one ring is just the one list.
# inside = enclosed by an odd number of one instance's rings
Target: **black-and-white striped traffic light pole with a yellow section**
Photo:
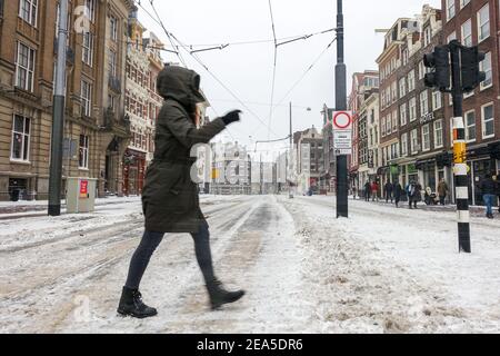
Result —
[[470, 254], [469, 167], [467, 165], [466, 127], [463, 125], [463, 92], [460, 70], [460, 43], [450, 42], [453, 97], [453, 174], [458, 211], [459, 250]]

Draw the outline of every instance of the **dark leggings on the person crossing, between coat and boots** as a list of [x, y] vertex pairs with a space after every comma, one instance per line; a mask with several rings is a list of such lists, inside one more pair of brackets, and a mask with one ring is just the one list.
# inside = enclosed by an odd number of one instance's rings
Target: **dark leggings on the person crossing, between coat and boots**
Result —
[[[130, 289], [139, 289], [142, 276], [149, 265], [152, 254], [163, 239], [163, 233], [144, 231], [142, 240], [132, 256], [129, 267], [129, 276], [127, 277], [126, 287]], [[194, 240], [194, 251], [198, 265], [203, 274], [204, 281], [208, 284], [214, 279], [212, 254], [210, 250], [210, 233], [207, 222], [200, 226], [197, 234], [191, 234]]]

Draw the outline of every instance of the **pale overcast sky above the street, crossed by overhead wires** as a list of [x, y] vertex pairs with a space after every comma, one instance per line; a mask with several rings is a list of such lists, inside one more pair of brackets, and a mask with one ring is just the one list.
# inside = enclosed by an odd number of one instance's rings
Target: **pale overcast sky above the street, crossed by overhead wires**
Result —
[[[377, 69], [376, 58], [383, 44], [383, 34], [374, 29], [390, 28], [400, 17], [413, 17], [424, 3], [440, 8], [440, 0], [344, 0], [346, 63], [348, 77], [364, 69]], [[149, 1], [142, 1], [151, 9]], [[337, 1], [334, 0], [271, 0], [278, 38], [310, 34], [334, 28]], [[154, 6], [167, 29], [186, 44], [216, 44], [272, 39], [268, 0], [182, 0], [160, 1]], [[142, 10], [139, 19], [166, 43], [168, 39], [158, 23]], [[336, 44], [308, 72], [288, 96], [293, 83], [327, 48], [334, 32], [314, 36], [279, 47], [273, 103], [281, 101], [272, 116], [270, 102], [274, 48], [272, 42], [229, 46], [223, 50], [198, 53], [204, 65], [233, 93], [242, 106], [217, 82], [189, 55], [182, 52], [191, 69], [201, 75], [202, 88], [213, 109], [211, 118], [231, 109], [241, 109], [242, 122], [230, 127], [222, 138], [250, 144], [287, 137], [289, 131], [288, 103], [293, 102], [293, 129], [321, 127], [323, 103], [334, 105]], [[169, 44], [167, 48], [171, 49]], [[167, 61], [179, 61], [176, 55], [166, 53]], [[348, 86], [350, 86], [350, 80]], [[349, 95], [348, 87], [348, 95]], [[307, 108], [311, 108], [308, 111]], [[284, 146], [286, 144], [281, 145]]]

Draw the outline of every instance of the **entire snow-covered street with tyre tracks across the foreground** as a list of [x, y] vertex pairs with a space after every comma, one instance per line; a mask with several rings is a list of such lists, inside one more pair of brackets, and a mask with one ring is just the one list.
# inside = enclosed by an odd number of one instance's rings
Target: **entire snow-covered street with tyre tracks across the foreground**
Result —
[[151, 260], [147, 320], [118, 298], [142, 233], [139, 199], [94, 214], [2, 220], [2, 333], [500, 333], [500, 221], [472, 219], [459, 255], [452, 211], [333, 197], [203, 196], [216, 270], [247, 296], [210, 312], [189, 235]]

